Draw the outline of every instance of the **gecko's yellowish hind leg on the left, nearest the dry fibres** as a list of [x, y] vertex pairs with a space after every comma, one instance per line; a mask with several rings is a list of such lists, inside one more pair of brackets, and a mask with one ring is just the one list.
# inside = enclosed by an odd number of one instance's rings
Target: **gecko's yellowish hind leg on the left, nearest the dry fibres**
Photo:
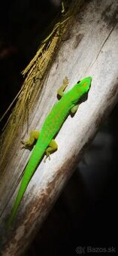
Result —
[[22, 141], [23, 148], [32, 148], [35, 145], [35, 141], [38, 140], [40, 132], [38, 130], [33, 130], [29, 133], [29, 139], [26, 139], [25, 142]]

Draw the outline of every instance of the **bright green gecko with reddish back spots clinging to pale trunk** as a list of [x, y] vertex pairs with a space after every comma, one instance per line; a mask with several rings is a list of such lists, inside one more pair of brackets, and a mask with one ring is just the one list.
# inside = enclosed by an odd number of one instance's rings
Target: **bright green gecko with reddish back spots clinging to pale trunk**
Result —
[[32, 131], [29, 139], [26, 142], [23, 142], [24, 147], [29, 147], [34, 145], [35, 140], [37, 140], [24, 171], [14, 207], [7, 221], [7, 227], [14, 221], [14, 217], [17, 214], [26, 187], [37, 169], [38, 164], [41, 162], [42, 157], [44, 154], [46, 154], [46, 158], [50, 157], [50, 154], [57, 150], [58, 145], [53, 138], [59, 132], [68, 114], [70, 114], [70, 112], [74, 114], [77, 111], [80, 99], [83, 95], [87, 95], [89, 92], [91, 82], [91, 77], [84, 78], [82, 81], [78, 81], [74, 87], [68, 90], [68, 92], [64, 93], [65, 88], [68, 86], [68, 78], [65, 78], [62, 87], [57, 91], [60, 99], [53, 105], [53, 108], [44, 120], [41, 132], [38, 132], [37, 130]]

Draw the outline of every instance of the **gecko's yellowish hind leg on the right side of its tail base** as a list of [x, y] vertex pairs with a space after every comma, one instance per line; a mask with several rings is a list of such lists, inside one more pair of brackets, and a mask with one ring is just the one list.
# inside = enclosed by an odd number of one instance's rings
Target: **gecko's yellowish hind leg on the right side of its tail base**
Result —
[[46, 151], [45, 151], [45, 158], [44, 158], [44, 163], [47, 160], [47, 157], [49, 157], [50, 160], [50, 154], [53, 154], [56, 150], [58, 149], [58, 145], [55, 141], [55, 139], [52, 139], [52, 141], [50, 142], [49, 146], [47, 147]]

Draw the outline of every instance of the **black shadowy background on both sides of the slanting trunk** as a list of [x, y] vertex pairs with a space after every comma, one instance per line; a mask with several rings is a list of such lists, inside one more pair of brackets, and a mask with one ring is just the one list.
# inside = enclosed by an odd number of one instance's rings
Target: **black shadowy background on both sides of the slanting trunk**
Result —
[[[0, 115], [14, 99], [60, 1], [12, 0], [0, 8]], [[65, 74], [66, 75], [66, 74]], [[5, 120], [4, 120], [5, 122]], [[2, 122], [2, 125], [4, 124]], [[24, 256], [77, 255], [116, 248], [118, 105], [104, 121]], [[77, 247], [81, 247], [76, 249]], [[90, 249], [90, 248], [89, 248]], [[88, 250], [89, 250], [88, 249]], [[117, 248], [116, 248], [117, 250]], [[104, 254], [113, 254], [113, 252]]]

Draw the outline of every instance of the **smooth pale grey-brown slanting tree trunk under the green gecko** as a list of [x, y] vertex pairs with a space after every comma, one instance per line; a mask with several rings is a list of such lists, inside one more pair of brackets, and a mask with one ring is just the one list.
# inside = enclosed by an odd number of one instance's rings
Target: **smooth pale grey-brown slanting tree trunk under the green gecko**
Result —
[[2, 255], [23, 254], [74, 172], [81, 154], [118, 100], [117, 9], [117, 0], [86, 1], [70, 28], [70, 38], [63, 41], [57, 53], [40, 102], [32, 110], [29, 130], [40, 130], [44, 118], [56, 102], [56, 90], [65, 76], [68, 76], [71, 87], [80, 78], [90, 75], [93, 78], [92, 87], [87, 101], [80, 105], [73, 118], [68, 117], [56, 136], [59, 150], [52, 155], [51, 161], [42, 161], [38, 166], [14, 226], [6, 234], [4, 221], [14, 204], [17, 182], [30, 154], [21, 150], [21, 134], [17, 135], [0, 183]]

